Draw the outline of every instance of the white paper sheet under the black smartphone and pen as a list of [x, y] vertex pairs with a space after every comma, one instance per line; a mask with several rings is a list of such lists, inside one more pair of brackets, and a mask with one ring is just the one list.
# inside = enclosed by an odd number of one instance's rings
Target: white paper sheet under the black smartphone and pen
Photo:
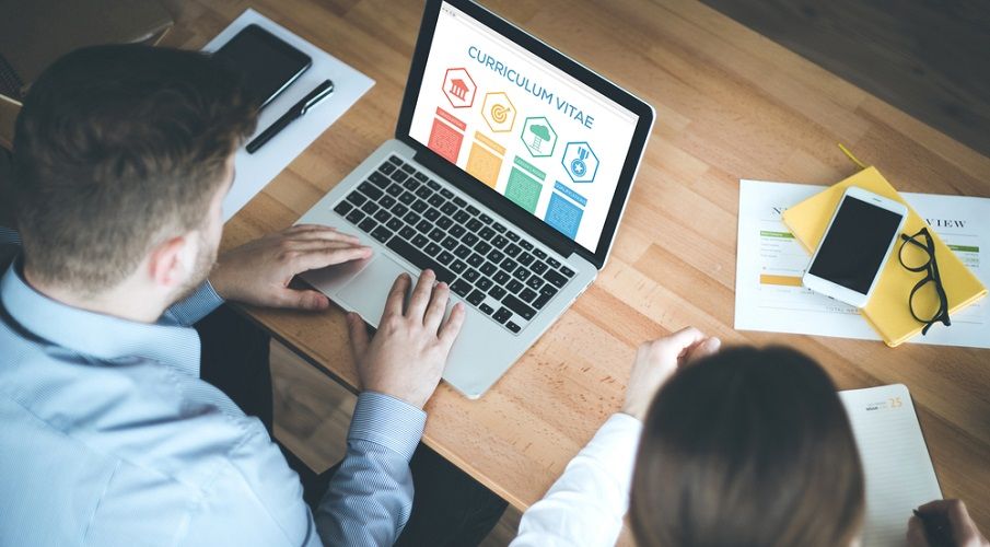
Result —
[[[223, 200], [223, 220], [230, 220], [251, 198], [261, 191], [272, 178], [286, 168], [306, 147], [319, 137], [334, 121], [353, 105], [368, 90], [374, 80], [345, 65], [340, 59], [319, 49], [295, 34], [278, 25], [260, 13], [248, 9], [233, 23], [210, 40], [203, 51], [214, 51], [237, 32], [249, 24], [257, 24], [313, 59], [308, 70], [282, 92], [275, 101], [261, 110], [258, 128], [251, 138], [265, 130], [307, 93], [324, 80], [334, 82], [334, 94], [313, 108], [305, 116], [296, 119], [278, 136], [268, 141], [254, 154], [248, 154], [244, 147], [236, 155], [236, 177], [230, 194]], [[251, 139], [248, 139], [249, 141]], [[246, 142], [245, 142], [246, 144]]]

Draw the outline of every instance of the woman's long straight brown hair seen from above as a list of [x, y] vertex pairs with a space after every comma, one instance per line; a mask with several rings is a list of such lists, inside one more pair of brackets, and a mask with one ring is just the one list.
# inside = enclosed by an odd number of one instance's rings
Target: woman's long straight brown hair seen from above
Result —
[[795, 350], [725, 349], [649, 410], [630, 507], [639, 545], [848, 546], [863, 507], [846, 410]]

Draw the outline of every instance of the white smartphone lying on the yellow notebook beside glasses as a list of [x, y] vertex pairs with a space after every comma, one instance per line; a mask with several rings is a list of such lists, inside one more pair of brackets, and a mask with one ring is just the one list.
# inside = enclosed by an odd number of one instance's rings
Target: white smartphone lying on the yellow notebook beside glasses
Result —
[[804, 286], [865, 307], [907, 214], [904, 203], [850, 186], [802, 278]]

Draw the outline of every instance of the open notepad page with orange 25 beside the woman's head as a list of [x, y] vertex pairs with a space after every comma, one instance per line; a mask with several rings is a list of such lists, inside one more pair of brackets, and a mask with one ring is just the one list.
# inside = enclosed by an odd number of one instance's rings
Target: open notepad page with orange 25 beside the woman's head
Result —
[[942, 499], [911, 395], [902, 384], [839, 392], [866, 477], [863, 547], [902, 547], [911, 510]]

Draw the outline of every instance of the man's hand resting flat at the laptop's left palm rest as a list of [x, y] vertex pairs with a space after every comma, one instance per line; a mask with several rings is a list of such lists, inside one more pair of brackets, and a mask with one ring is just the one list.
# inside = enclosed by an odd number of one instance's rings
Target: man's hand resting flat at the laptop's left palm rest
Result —
[[270, 307], [326, 310], [317, 291], [289, 288], [296, 274], [371, 256], [352, 235], [329, 226], [301, 224], [242, 245], [220, 256], [210, 283], [224, 300]]

